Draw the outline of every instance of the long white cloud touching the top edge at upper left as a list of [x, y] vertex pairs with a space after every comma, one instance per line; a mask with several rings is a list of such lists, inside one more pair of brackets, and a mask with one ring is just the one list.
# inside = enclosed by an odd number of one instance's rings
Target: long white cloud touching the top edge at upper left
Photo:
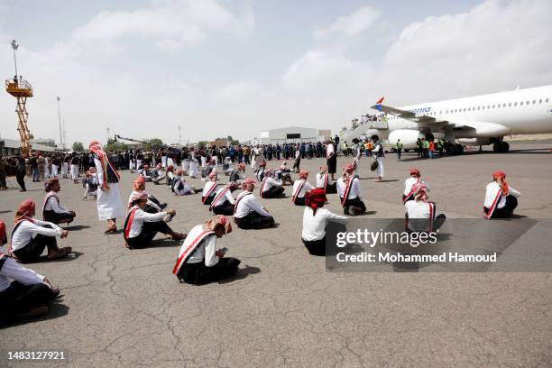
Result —
[[250, 7], [233, 14], [216, 0], [167, 0], [132, 11], [102, 12], [78, 28], [78, 42], [115, 41], [125, 36], [158, 40], [161, 50], [173, 51], [186, 44], [205, 41], [209, 34], [250, 32], [254, 17]]

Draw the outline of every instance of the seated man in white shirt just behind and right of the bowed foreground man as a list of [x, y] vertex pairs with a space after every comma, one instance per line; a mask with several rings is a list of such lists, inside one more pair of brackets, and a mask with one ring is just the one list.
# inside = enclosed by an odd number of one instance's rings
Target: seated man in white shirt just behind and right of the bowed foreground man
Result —
[[255, 180], [245, 179], [244, 191], [235, 199], [234, 222], [242, 229], [262, 229], [274, 225], [274, 218], [253, 195]]

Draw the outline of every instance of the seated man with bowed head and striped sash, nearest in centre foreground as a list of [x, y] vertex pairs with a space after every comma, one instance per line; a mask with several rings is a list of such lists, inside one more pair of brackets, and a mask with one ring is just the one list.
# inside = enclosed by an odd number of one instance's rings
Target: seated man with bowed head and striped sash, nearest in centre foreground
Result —
[[235, 275], [240, 261], [225, 257], [216, 249], [216, 240], [232, 232], [225, 216], [215, 216], [203, 225], [196, 225], [180, 247], [179, 258], [172, 269], [180, 281], [205, 284]]

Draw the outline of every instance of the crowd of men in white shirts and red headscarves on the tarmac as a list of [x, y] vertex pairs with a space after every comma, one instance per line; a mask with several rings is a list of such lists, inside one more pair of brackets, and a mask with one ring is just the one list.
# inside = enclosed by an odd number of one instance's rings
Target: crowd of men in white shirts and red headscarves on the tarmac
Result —
[[[371, 141], [371, 166], [383, 166], [381, 140], [373, 135]], [[358, 146], [362, 143], [354, 144]], [[296, 163], [301, 159], [300, 146], [295, 145]], [[173, 273], [179, 281], [204, 284], [231, 277], [239, 269], [240, 261], [225, 257], [227, 249], [217, 246], [218, 239], [233, 231], [232, 222], [244, 231], [278, 225], [277, 220], [262, 206], [258, 198], [290, 200], [291, 206], [304, 207], [301, 240], [308, 253], [313, 255], [327, 253], [327, 219], [345, 222], [346, 216], [366, 213], [367, 206], [358, 174], [362, 153], [357, 150], [353, 161], [345, 164], [336, 179], [336, 148], [336, 143], [331, 140], [323, 144], [326, 164], [319, 167], [313, 183], [308, 181], [308, 170], [299, 170], [299, 163], [295, 170], [295, 179], [285, 159], [279, 162], [279, 166], [271, 167], [271, 160], [265, 156], [266, 147], [261, 145], [253, 147], [250, 152], [249, 165], [253, 172], [251, 177], [245, 174], [247, 161], [243, 150], [243, 156], [238, 154], [234, 161], [230, 156], [222, 156], [229, 150], [131, 152], [128, 155], [128, 166], [120, 166], [127, 163], [124, 160], [117, 163], [115, 156], [124, 158], [125, 152], [106, 152], [100, 143], [92, 142], [86, 154], [69, 157], [71, 165], [78, 168], [87, 161], [82, 167], [87, 169], [83, 179], [86, 186], [85, 197], [88, 193], [97, 197], [98, 219], [106, 221], [106, 234], [117, 233], [116, 220], [124, 218], [122, 237], [129, 250], [151, 246], [158, 233], [171, 241], [179, 242], [177, 244], [181, 242]], [[83, 160], [83, 156], [87, 159]], [[78, 157], [79, 162], [72, 163], [74, 157]], [[224, 160], [218, 161], [220, 157], [224, 157]], [[127, 189], [130, 196], [126, 206], [121, 199], [121, 193], [125, 189], [120, 187], [118, 168], [122, 167], [136, 172], [132, 189]], [[378, 172], [378, 175], [379, 179], [376, 181], [382, 181], [383, 171], [381, 175]], [[15, 212], [11, 243], [8, 244], [7, 254], [0, 254], [0, 306], [4, 310], [16, 310], [22, 316], [41, 315], [48, 310], [49, 303], [60, 292], [46, 278], [20, 264], [38, 262], [44, 251], [47, 251], [47, 260], [67, 257], [73, 252], [70, 246], [58, 245], [58, 238], [66, 241], [69, 236], [68, 229], [60, 225], [69, 225], [77, 217], [74, 211], [61, 203], [59, 176], [51, 175], [45, 182], [42, 220], [35, 217], [36, 205], [31, 199], [25, 199]], [[201, 177], [205, 181], [204, 188], [190, 186], [186, 181], [187, 177]], [[39, 179], [44, 177], [40, 178], [39, 175]], [[175, 198], [201, 194], [198, 196], [198, 206], [206, 207], [207, 221], [190, 228], [188, 234], [174, 230], [169, 224], [177, 216], [176, 211], [152, 196], [146, 190], [147, 183], [165, 185]], [[288, 199], [283, 188], [286, 185], [291, 187], [291, 196]], [[256, 186], [259, 188], [258, 192], [255, 191]], [[242, 190], [235, 196], [238, 189]], [[420, 171], [410, 170], [402, 194], [405, 230], [434, 231], [445, 221], [445, 215], [437, 215], [435, 203], [429, 200], [429, 191], [430, 187], [422, 179]], [[325, 208], [333, 194], [336, 194], [335, 198], [343, 209], [343, 215], [337, 215]], [[520, 192], [511, 188], [503, 172], [494, 172], [492, 182], [486, 189], [483, 216], [511, 216], [518, 205], [519, 196]], [[212, 215], [207, 216], [209, 212]], [[0, 237], [5, 244], [7, 235], [2, 222]]]

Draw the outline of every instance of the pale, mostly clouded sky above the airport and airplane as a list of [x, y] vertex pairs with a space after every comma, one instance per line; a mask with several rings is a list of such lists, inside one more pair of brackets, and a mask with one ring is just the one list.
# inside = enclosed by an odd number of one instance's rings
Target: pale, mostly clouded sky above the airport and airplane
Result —
[[[305, 125], [338, 130], [391, 105], [550, 84], [552, 5], [487, 1], [12, 1], [0, 3], [35, 136], [195, 142]], [[0, 133], [15, 137], [14, 98]], [[207, 128], [208, 127], [208, 128]]]

